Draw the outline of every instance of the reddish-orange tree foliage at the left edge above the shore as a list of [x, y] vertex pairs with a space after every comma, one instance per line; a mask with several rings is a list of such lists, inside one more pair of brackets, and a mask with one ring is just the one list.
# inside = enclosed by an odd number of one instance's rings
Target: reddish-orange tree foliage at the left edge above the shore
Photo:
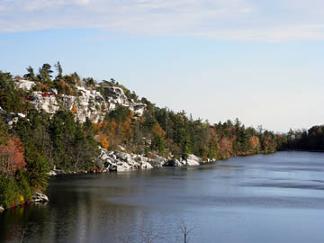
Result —
[[6, 144], [0, 145], [0, 172], [6, 175], [26, 166], [23, 157], [23, 146], [19, 138], [10, 137]]

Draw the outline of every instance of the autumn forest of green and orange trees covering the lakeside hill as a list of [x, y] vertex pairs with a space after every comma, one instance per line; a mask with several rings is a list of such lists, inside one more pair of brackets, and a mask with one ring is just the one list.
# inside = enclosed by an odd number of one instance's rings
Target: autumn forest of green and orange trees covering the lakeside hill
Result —
[[[159, 108], [146, 98], [120, 85], [113, 78], [101, 82], [92, 77], [81, 78], [77, 73], [63, 74], [59, 62], [42, 65], [35, 73], [27, 67], [23, 76], [0, 71], [0, 205], [5, 208], [30, 202], [32, 194], [45, 191], [49, 170], [67, 172], [94, 171], [99, 146], [109, 150], [125, 149], [152, 157], [185, 157], [194, 154], [202, 159], [226, 159], [259, 153], [274, 153], [281, 149], [323, 150], [323, 126], [311, 130], [276, 134], [246, 127], [238, 119], [211, 124], [193, 120], [184, 111]], [[54, 76], [56, 73], [56, 76]], [[17, 88], [16, 80], [36, 83], [31, 91]], [[119, 86], [135, 102], [146, 104], [141, 117], [135, 117], [128, 107], [119, 105], [104, 114], [102, 121], [76, 119], [75, 108], [59, 109], [54, 115], [36, 110], [30, 103], [32, 92], [78, 96], [76, 86], [103, 92], [105, 85]], [[12, 126], [8, 114], [23, 113]]]

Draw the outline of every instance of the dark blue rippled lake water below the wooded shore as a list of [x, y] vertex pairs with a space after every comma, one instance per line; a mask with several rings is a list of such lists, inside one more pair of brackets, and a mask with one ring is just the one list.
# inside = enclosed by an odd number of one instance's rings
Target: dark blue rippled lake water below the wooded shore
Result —
[[324, 242], [324, 153], [49, 182], [50, 202], [0, 213], [0, 242]]

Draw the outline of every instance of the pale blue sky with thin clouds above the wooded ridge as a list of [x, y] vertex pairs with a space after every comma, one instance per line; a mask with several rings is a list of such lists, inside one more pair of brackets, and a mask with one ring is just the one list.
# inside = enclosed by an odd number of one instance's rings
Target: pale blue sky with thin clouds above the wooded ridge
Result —
[[0, 0], [0, 70], [59, 61], [211, 123], [323, 124], [323, 57], [320, 0]]

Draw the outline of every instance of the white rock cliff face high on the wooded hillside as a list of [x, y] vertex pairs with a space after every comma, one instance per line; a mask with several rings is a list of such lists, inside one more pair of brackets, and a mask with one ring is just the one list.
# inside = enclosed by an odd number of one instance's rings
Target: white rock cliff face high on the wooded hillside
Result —
[[[18, 80], [16, 85], [18, 88], [30, 91], [35, 83]], [[118, 105], [128, 107], [138, 117], [146, 109], [146, 104], [130, 100], [117, 86], [103, 86], [104, 96], [83, 86], [76, 86], [76, 89], [78, 96], [57, 94], [56, 90], [52, 90], [50, 93], [33, 92], [29, 100], [36, 109], [42, 109], [49, 114], [54, 114], [59, 109], [73, 111], [81, 122], [85, 122], [86, 118], [94, 122], [103, 121], [104, 115], [116, 109]]]

